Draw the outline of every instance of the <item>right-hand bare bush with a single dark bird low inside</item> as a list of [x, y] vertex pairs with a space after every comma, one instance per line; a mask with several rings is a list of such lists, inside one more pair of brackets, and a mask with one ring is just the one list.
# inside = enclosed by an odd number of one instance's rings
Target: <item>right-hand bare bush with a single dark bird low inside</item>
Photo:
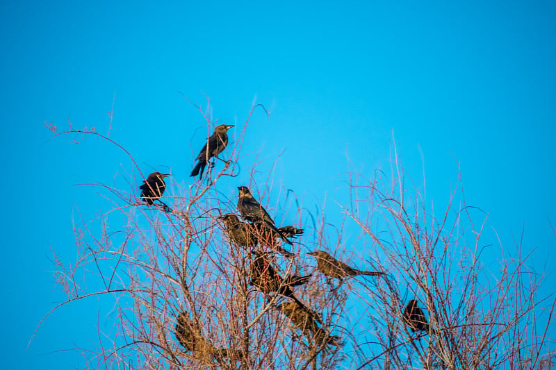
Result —
[[[555, 352], [546, 330], [555, 301], [538, 296], [542, 276], [521, 255], [502, 254], [497, 271], [486, 269], [482, 234], [488, 216], [466, 205], [459, 178], [438, 217], [416, 185], [407, 188], [397, 155], [392, 169], [393, 180], [380, 172], [372, 180], [353, 175], [354, 200], [343, 207], [369, 240], [371, 255], [391, 273], [359, 297], [372, 307], [370, 327], [380, 344], [366, 348], [371, 354], [364, 366], [548, 369]], [[430, 335], [404, 325], [410, 299], [426, 308]]]

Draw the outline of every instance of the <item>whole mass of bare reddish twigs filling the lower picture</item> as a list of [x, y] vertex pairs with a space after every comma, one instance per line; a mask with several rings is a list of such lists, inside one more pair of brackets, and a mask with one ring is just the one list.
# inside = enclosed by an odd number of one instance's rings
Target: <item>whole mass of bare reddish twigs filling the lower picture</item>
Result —
[[[488, 271], [481, 258], [486, 216], [465, 205], [459, 186], [441, 216], [434, 215], [418, 187], [406, 188], [397, 158], [390, 176], [379, 171], [372, 179], [350, 176], [352, 200], [341, 205], [341, 226], [327, 224], [324, 213], [310, 215], [309, 222], [303, 204], [277, 200], [287, 219], [306, 232], [290, 248], [293, 258], [269, 256], [282, 276], [310, 273], [316, 261], [306, 253], [324, 250], [338, 260], [383, 271], [384, 277], [334, 279], [313, 271], [308, 283], [295, 287], [306, 312], [313, 312], [311, 319], [296, 317], [301, 311], [295, 303], [288, 306], [291, 299], [259, 292], [248, 276], [252, 252], [230, 241], [219, 218], [236, 212], [235, 187], [220, 179], [237, 174], [248, 122], [235, 146], [223, 153], [229, 162], [208, 169], [205, 180], [169, 187], [164, 197], [172, 212], [139, 201], [136, 189], [146, 176], [133, 155], [110, 137], [71, 124], [63, 132], [47, 125], [56, 135], [108, 140], [129, 155], [140, 174], [126, 190], [97, 184], [113, 203], [99, 217], [101, 232], [95, 233], [88, 220], [76, 220], [76, 262], [68, 266], [55, 255], [67, 301], [53, 310], [95, 296], [106, 296], [112, 305], [112, 326], [100, 330], [99, 323], [88, 368], [552, 367], [554, 343], [546, 328], [553, 322], [555, 301], [537, 296], [541, 276], [532, 274], [521, 257], [502, 258], [498, 271]], [[253, 174], [255, 168], [243, 166], [243, 171]], [[250, 185], [272, 210], [270, 183], [251, 181], [237, 185]], [[114, 221], [107, 226], [112, 219], [119, 223], [115, 231]], [[341, 244], [345, 228], [361, 231], [363, 253]], [[430, 333], [413, 333], [405, 324], [410, 299], [425, 309]], [[549, 314], [539, 319], [542, 308]]]

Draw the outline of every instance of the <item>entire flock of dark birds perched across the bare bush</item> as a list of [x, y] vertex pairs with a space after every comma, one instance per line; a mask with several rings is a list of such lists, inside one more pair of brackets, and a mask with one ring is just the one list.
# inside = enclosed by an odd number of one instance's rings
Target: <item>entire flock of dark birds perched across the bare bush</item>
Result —
[[[234, 127], [233, 125], [222, 124], [216, 126], [214, 133], [207, 137], [206, 144], [197, 155], [197, 165], [191, 171], [190, 176], [199, 175], [199, 180], [202, 178], [204, 169], [208, 165], [209, 168], [213, 166], [208, 162], [211, 158], [218, 158], [218, 155], [226, 149], [228, 144], [227, 131]], [[145, 183], [140, 186], [141, 194], [140, 199], [148, 205], [154, 205], [158, 201], [160, 206], [165, 212], [172, 212], [172, 209], [163, 203], [160, 198], [166, 189], [164, 179], [170, 174], [162, 174], [161, 172], [153, 172], [149, 174]], [[238, 215], [228, 213], [221, 215], [218, 218], [224, 224], [224, 232], [227, 234], [230, 242], [236, 246], [242, 246], [245, 249], [252, 249], [252, 261], [249, 267], [249, 278], [251, 285], [254, 285], [263, 294], [271, 293], [278, 294], [291, 299], [286, 303], [275, 305], [275, 308], [284, 313], [297, 328], [302, 330], [302, 333], [313, 339], [318, 346], [332, 344], [339, 346], [339, 337], [331, 335], [326, 328], [325, 324], [320, 318], [320, 314], [308, 308], [304, 303], [297, 299], [293, 293], [293, 287], [302, 285], [309, 281], [312, 274], [307, 276], [286, 276], [285, 278], [279, 275], [279, 272], [272, 266], [270, 255], [272, 253], [265, 252], [262, 249], [254, 249], [256, 246], [269, 247], [273, 251], [281, 253], [286, 258], [291, 258], [294, 253], [287, 251], [279, 243], [281, 239], [285, 244], [293, 245], [290, 238], [301, 235], [304, 230], [296, 228], [295, 226], [281, 226], [277, 227], [275, 221], [270, 217], [268, 212], [263, 206], [254, 199], [249, 188], [245, 186], [238, 187], [238, 212], [241, 217], [247, 221], [241, 221]], [[308, 253], [316, 258], [317, 269], [327, 278], [347, 278], [350, 276], [382, 276], [383, 272], [377, 271], [361, 271], [354, 269], [349, 265], [336, 260], [336, 258], [329, 255], [325, 251], [314, 251]], [[270, 298], [269, 298], [270, 299]], [[403, 321], [406, 323], [411, 332], [423, 331], [430, 333], [430, 326], [425, 317], [423, 310], [418, 307], [415, 299], [409, 301], [404, 308], [402, 315]], [[213, 358], [238, 358], [238, 350], [230, 348], [215, 348], [208, 344], [206, 339], [199, 333], [199, 326], [195, 326], [186, 312], [181, 312], [177, 318], [176, 324], [176, 337], [179, 343], [186, 348], [187, 351], [199, 353], [201, 355], [211, 355]], [[234, 355], [234, 356], [233, 356]]]

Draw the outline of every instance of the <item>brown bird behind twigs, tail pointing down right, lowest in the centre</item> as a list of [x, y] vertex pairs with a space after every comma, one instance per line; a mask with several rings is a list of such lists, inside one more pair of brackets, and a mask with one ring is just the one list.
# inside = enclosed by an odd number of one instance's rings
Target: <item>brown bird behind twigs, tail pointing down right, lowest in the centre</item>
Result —
[[310, 308], [300, 307], [295, 302], [282, 303], [276, 308], [286, 314], [286, 316], [300, 328], [306, 337], [312, 338], [318, 346], [333, 344], [340, 346], [338, 342], [341, 338], [337, 335], [330, 335], [327, 330], [318, 326], [319, 314]]

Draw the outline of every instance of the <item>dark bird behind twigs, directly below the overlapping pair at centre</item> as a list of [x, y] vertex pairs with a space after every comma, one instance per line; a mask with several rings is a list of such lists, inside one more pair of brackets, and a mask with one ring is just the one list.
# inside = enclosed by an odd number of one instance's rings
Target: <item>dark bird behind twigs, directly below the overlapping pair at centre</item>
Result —
[[294, 275], [282, 278], [276, 269], [272, 267], [272, 264], [270, 264], [270, 261], [267, 259], [267, 253], [254, 251], [253, 254], [255, 258], [249, 267], [249, 277], [252, 285], [259, 288], [264, 294], [275, 292], [281, 296], [292, 298], [297, 305], [304, 308], [305, 305], [293, 295], [291, 287], [297, 287], [306, 283], [311, 278], [311, 275]]

